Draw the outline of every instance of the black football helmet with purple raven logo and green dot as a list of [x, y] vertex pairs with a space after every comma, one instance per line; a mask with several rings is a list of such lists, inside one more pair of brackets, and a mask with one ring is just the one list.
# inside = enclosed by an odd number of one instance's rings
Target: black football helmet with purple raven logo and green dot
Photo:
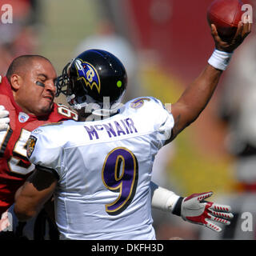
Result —
[[117, 57], [105, 50], [86, 50], [64, 67], [56, 96], [65, 94], [77, 110], [89, 104], [104, 109], [104, 102], [112, 108], [122, 101], [126, 85], [126, 69]]

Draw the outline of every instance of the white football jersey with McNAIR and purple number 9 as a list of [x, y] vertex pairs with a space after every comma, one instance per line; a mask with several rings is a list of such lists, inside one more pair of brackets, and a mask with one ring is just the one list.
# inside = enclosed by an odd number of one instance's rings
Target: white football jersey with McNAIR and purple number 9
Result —
[[30, 162], [58, 174], [55, 215], [63, 239], [155, 239], [150, 179], [174, 118], [155, 98], [136, 98], [102, 121], [40, 126]]

